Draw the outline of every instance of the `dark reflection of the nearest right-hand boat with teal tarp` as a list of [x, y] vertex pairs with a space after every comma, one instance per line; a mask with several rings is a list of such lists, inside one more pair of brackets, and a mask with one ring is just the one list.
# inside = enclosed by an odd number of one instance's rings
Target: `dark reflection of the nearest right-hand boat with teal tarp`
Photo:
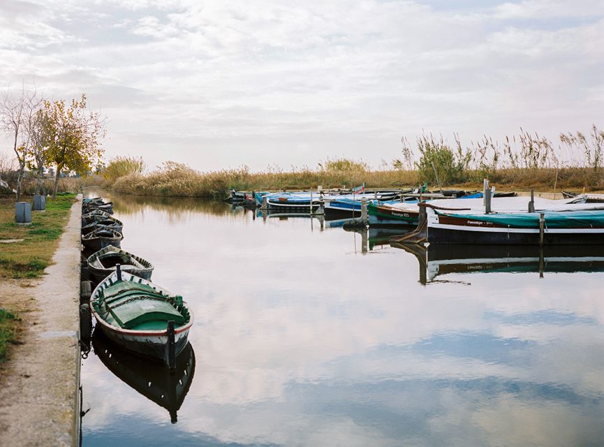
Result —
[[391, 245], [413, 253], [429, 281], [450, 273], [604, 272], [604, 245], [551, 245], [541, 250], [526, 245]]

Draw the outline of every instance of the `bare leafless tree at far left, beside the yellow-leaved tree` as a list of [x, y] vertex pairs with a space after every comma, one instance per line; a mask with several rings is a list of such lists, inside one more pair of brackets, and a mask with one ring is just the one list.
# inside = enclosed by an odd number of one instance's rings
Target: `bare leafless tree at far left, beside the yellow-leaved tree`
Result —
[[27, 133], [27, 121], [36, 114], [40, 107], [40, 99], [36, 98], [36, 90], [27, 91], [23, 86], [20, 94], [13, 94], [8, 89], [3, 94], [0, 103], [0, 122], [3, 131], [10, 135], [13, 140], [13, 151], [19, 162], [17, 175], [17, 202], [21, 200], [21, 183], [27, 163], [27, 151], [29, 145], [29, 133]]

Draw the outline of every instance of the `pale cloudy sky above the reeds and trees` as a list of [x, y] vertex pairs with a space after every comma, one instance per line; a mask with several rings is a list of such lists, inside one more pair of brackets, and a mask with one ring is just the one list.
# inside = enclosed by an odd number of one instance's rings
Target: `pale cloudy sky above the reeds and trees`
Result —
[[0, 89], [85, 92], [149, 168], [378, 168], [422, 132], [604, 126], [603, 43], [601, 0], [0, 0]]

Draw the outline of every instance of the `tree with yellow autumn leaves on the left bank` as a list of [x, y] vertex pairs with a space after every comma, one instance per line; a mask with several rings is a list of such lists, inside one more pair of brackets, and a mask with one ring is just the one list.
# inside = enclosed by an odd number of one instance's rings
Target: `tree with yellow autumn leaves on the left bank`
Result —
[[44, 101], [40, 113], [47, 144], [47, 161], [54, 163], [52, 197], [57, 196], [59, 179], [63, 170], [86, 175], [94, 163], [103, 155], [101, 139], [105, 127], [96, 112], [87, 110], [86, 95], [80, 101]]

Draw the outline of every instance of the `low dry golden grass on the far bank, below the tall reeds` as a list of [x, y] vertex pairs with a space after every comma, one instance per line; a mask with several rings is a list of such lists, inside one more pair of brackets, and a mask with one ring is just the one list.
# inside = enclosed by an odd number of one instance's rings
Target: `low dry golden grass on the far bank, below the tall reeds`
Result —
[[[483, 178], [499, 189], [553, 191], [570, 189], [594, 191], [602, 189], [601, 177], [590, 168], [502, 168], [498, 170], [466, 170], [463, 177], [445, 182], [446, 187], [482, 189]], [[199, 173], [187, 166], [169, 163], [147, 175], [140, 173], [119, 177], [108, 184], [119, 193], [136, 196], [172, 196], [224, 198], [228, 189], [275, 191], [341, 186], [367, 188], [405, 188], [418, 185], [425, 177], [418, 170], [295, 170], [293, 172], [250, 173], [246, 169]], [[434, 179], [428, 179], [436, 189]]]

